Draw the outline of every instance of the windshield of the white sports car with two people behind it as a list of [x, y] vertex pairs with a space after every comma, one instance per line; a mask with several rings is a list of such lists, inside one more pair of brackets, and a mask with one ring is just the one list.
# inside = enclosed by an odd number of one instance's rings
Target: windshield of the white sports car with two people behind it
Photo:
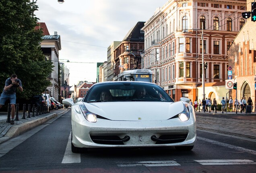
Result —
[[174, 102], [158, 85], [147, 82], [106, 82], [87, 92], [84, 102], [157, 101]]

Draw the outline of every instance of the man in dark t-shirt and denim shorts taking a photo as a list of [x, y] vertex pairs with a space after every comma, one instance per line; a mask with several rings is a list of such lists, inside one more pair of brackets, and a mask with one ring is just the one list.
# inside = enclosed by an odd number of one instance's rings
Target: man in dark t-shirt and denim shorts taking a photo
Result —
[[4, 103], [9, 99], [11, 105], [11, 121], [10, 124], [14, 124], [14, 114], [15, 114], [15, 105], [16, 105], [16, 91], [19, 89], [23, 91], [21, 80], [17, 78], [16, 74], [12, 74], [10, 78], [6, 79], [4, 90], [0, 97], [0, 108], [4, 105]]

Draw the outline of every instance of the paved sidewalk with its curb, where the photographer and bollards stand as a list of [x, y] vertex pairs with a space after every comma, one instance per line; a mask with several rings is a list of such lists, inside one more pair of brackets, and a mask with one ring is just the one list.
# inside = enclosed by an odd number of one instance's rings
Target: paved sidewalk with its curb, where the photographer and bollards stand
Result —
[[[27, 114], [25, 113], [26, 119], [22, 119], [23, 112], [19, 112], [19, 121], [14, 121], [14, 125], [10, 123], [6, 123], [7, 120], [7, 112], [0, 112], [0, 144], [4, 141], [7, 141], [10, 138], [16, 137], [30, 129], [33, 129], [46, 121], [56, 117], [57, 115], [64, 114], [68, 112], [68, 109], [58, 109], [58, 110], [50, 110], [50, 113], [38, 115], [35, 117], [31, 117], [32, 113], [30, 113], [31, 118], [27, 118]], [[35, 114], [36, 115], [36, 114]], [[16, 117], [16, 114], [15, 114]]]

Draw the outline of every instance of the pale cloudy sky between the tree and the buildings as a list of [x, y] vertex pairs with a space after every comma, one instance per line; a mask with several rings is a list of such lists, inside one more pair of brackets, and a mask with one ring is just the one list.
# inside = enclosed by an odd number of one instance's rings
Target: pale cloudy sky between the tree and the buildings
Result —
[[[31, 0], [32, 1], [32, 0]], [[34, 0], [35, 1], [35, 0]], [[137, 22], [147, 22], [168, 0], [37, 0], [35, 12], [51, 35], [57, 31], [59, 61], [70, 73], [70, 86], [96, 82], [97, 62], [107, 61], [107, 48], [122, 41]], [[66, 62], [69, 60], [70, 62]]]

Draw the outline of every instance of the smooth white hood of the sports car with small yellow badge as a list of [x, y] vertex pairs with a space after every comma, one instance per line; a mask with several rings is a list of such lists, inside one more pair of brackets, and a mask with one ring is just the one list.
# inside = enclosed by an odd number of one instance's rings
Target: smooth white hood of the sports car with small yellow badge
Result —
[[116, 121], [166, 120], [184, 110], [184, 102], [83, 103], [88, 111]]

